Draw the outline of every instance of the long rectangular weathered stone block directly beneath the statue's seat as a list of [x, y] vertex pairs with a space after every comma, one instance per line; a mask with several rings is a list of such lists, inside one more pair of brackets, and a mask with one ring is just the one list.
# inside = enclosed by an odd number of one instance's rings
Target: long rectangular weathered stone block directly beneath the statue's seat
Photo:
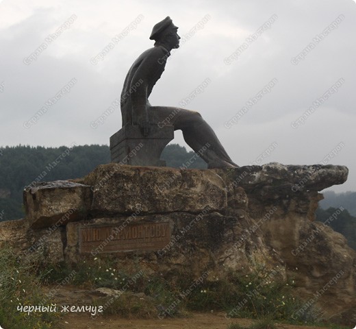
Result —
[[84, 179], [92, 185], [92, 212], [125, 214], [201, 212], [227, 206], [225, 182], [214, 171], [105, 164]]

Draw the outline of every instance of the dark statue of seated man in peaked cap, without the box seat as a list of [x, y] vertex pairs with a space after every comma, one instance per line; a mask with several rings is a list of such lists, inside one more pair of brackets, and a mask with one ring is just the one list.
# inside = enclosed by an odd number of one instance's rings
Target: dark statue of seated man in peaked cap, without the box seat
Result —
[[164, 71], [170, 51], [179, 47], [177, 29], [169, 16], [157, 23], [150, 36], [155, 40], [154, 47], [144, 51], [129, 69], [121, 93], [123, 127], [138, 125], [143, 136], [149, 138], [153, 125], [173, 125], [174, 130], [183, 132], [186, 143], [207, 162], [208, 168], [238, 167], [199, 112], [149, 103], [149, 95]]

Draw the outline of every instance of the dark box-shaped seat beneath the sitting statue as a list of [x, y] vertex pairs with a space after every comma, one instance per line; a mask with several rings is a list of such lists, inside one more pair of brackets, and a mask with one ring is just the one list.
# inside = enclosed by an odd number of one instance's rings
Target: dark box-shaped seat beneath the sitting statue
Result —
[[151, 132], [147, 137], [142, 135], [140, 126], [125, 125], [110, 137], [111, 160], [133, 166], [164, 167], [166, 162], [160, 160], [160, 156], [173, 138], [173, 125], [162, 128], [151, 125]]

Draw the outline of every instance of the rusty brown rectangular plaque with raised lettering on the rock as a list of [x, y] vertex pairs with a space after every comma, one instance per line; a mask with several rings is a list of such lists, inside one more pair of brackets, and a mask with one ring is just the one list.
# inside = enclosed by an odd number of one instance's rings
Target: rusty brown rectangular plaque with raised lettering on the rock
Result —
[[159, 250], [168, 243], [169, 223], [137, 223], [125, 228], [114, 225], [79, 228], [81, 254]]

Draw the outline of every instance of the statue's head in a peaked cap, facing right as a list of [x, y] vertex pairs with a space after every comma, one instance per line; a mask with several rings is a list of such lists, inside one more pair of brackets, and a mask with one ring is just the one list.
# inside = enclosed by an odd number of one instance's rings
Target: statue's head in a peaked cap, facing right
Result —
[[163, 21], [160, 21], [160, 23], [157, 23], [153, 27], [149, 38], [168, 46], [170, 49], [178, 48], [180, 36], [177, 31], [178, 27], [175, 26], [172, 19], [167, 16]]

